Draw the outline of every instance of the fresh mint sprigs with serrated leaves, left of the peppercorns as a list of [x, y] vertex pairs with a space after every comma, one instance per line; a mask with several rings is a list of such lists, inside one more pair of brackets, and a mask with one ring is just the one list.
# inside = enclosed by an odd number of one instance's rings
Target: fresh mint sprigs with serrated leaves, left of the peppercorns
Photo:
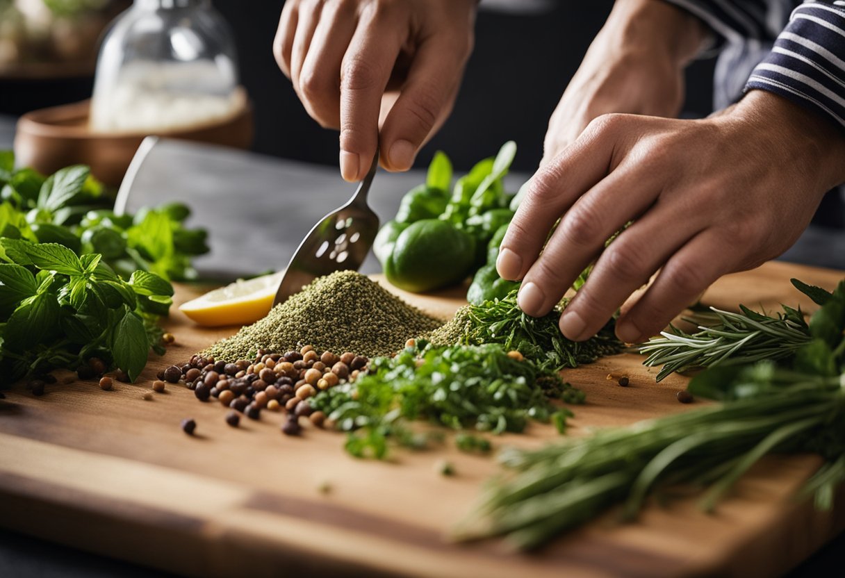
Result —
[[173, 288], [158, 275], [139, 270], [123, 281], [100, 254], [8, 237], [0, 260], [0, 383], [90, 357], [134, 380], [150, 348], [163, 353], [155, 322]]

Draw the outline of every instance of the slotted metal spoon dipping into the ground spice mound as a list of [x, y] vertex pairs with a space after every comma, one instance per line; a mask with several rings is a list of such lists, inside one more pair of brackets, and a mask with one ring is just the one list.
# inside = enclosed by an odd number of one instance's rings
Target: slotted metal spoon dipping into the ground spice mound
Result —
[[367, 194], [379, 166], [379, 150], [352, 199], [325, 215], [299, 243], [281, 278], [273, 305], [302, 290], [317, 277], [361, 268], [379, 232], [379, 216], [369, 208]]

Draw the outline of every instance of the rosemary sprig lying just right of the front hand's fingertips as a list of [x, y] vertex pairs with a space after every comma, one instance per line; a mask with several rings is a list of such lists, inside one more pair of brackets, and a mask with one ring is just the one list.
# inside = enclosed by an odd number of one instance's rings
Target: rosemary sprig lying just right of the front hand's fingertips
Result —
[[[819, 305], [830, 300], [831, 294], [819, 287], [797, 279], [793, 279], [792, 283]], [[694, 334], [684, 333], [676, 327], [672, 327], [671, 332], [663, 332], [662, 338], [652, 339], [640, 346], [639, 351], [648, 356], [643, 364], [649, 367], [662, 365], [657, 374], [657, 381], [660, 381], [674, 372], [693, 368], [788, 359], [812, 339], [810, 325], [804, 320], [800, 308], [782, 305], [783, 313], [774, 317], [755, 313], [744, 305], [739, 308], [741, 313], [711, 308], [712, 314], [707, 317], [686, 319], [698, 324], [699, 331]], [[818, 315], [817, 325], [823, 320], [826, 324], [836, 323], [826, 319], [826, 313]], [[702, 321], [712, 323], [703, 324]]]

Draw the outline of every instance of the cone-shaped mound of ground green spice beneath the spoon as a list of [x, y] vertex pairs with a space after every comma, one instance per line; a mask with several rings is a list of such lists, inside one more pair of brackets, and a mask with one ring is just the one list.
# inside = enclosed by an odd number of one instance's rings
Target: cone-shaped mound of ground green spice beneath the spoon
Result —
[[259, 349], [287, 352], [309, 344], [318, 351], [390, 355], [408, 338], [443, 324], [355, 271], [319, 277], [270, 314], [202, 352], [231, 363]]

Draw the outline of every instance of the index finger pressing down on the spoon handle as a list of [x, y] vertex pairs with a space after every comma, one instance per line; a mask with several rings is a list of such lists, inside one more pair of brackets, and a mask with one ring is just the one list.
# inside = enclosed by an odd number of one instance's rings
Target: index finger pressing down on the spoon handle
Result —
[[395, 13], [362, 14], [341, 67], [341, 175], [363, 178], [379, 141], [381, 97], [398, 57], [402, 26]]

